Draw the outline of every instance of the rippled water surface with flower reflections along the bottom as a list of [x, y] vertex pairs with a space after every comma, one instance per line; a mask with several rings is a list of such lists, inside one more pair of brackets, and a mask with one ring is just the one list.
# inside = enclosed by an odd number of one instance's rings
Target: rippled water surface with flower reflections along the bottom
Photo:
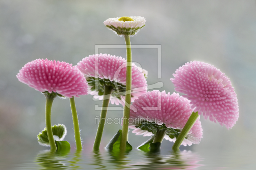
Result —
[[256, 154], [249, 150], [230, 152], [220, 150], [144, 152], [133, 149], [120, 154], [107, 150], [75, 150], [51, 152], [50, 150], [21, 152], [14, 156], [1, 156], [1, 169], [256, 169]]

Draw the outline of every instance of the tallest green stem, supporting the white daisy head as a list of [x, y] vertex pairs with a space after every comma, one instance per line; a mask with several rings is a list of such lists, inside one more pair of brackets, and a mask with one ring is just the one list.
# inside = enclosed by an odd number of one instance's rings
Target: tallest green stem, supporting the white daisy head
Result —
[[120, 142], [120, 150], [125, 151], [127, 134], [128, 134], [128, 125], [130, 118], [130, 104], [131, 104], [131, 89], [132, 89], [132, 49], [130, 36], [124, 35], [124, 40], [126, 43], [126, 91], [125, 91], [125, 106], [124, 106], [124, 119], [122, 127], [122, 137]]

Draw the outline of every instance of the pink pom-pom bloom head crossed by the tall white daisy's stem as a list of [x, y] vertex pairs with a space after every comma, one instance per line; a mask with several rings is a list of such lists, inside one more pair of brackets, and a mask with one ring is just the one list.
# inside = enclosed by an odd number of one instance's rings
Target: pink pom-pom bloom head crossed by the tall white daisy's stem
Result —
[[[113, 86], [111, 104], [124, 106], [125, 85], [126, 85], [126, 60], [115, 55], [96, 54], [85, 57], [77, 63], [78, 69], [84, 74], [89, 82], [89, 93], [94, 98], [103, 100], [104, 85]], [[95, 90], [95, 78], [100, 81], [98, 89]], [[132, 63], [132, 98], [131, 102], [141, 94], [147, 92], [147, 81], [142, 69]], [[96, 87], [97, 88], [97, 87]], [[120, 100], [121, 99], [121, 100]]]

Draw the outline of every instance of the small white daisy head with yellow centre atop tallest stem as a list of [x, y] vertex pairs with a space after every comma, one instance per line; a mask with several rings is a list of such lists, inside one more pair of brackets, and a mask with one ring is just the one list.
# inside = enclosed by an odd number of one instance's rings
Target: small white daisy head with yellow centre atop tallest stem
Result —
[[145, 26], [145, 23], [146, 19], [144, 17], [117, 17], [108, 18], [104, 21], [104, 25], [118, 35], [134, 35]]

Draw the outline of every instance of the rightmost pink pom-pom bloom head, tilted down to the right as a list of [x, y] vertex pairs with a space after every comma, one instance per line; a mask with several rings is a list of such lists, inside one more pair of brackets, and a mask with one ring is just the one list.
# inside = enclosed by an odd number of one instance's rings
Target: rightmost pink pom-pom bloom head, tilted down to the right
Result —
[[185, 63], [173, 74], [177, 92], [191, 100], [194, 112], [204, 119], [232, 128], [239, 117], [236, 93], [231, 81], [220, 70], [204, 62]]

